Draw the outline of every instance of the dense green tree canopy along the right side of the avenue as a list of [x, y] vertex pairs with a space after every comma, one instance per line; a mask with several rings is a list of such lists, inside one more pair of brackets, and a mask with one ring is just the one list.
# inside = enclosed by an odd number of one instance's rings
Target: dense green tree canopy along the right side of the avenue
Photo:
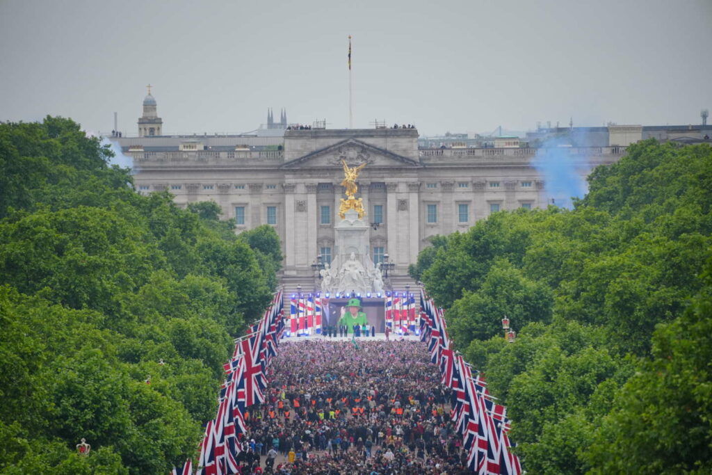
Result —
[[708, 473], [712, 148], [639, 142], [589, 187], [572, 210], [437, 236], [412, 276], [507, 404], [528, 471]]

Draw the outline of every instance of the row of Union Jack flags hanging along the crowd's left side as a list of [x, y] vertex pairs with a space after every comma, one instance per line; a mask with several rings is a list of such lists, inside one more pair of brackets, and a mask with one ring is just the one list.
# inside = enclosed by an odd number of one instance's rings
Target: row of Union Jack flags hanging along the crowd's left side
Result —
[[[232, 357], [223, 365], [226, 376], [218, 412], [206, 424], [196, 475], [240, 473], [236, 459], [242, 451], [241, 434], [246, 432], [244, 414], [247, 407], [265, 400], [267, 368], [277, 355], [284, 329], [282, 291], [278, 291], [263, 317], [235, 340]], [[172, 475], [192, 475], [192, 461], [188, 459]]]

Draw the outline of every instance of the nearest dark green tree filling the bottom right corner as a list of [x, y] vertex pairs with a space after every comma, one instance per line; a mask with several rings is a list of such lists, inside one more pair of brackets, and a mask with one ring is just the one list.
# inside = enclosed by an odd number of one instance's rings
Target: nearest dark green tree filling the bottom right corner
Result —
[[653, 359], [639, 360], [595, 432], [591, 473], [712, 471], [711, 270], [684, 315], [656, 330]]

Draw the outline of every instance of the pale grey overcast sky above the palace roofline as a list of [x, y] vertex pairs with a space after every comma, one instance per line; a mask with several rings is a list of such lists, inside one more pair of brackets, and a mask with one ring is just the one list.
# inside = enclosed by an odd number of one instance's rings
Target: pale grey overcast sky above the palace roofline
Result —
[[0, 120], [137, 133], [289, 122], [421, 135], [698, 124], [712, 109], [712, 1], [0, 0]]

